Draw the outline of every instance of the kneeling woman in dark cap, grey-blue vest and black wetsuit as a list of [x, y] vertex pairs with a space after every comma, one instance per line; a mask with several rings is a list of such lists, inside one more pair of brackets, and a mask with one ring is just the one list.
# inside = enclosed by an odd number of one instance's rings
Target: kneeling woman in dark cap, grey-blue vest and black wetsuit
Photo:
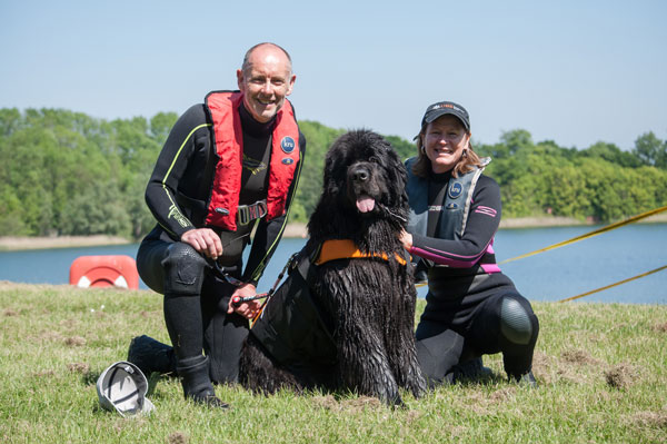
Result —
[[426, 308], [417, 327], [419, 363], [430, 385], [451, 382], [459, 365], [501, 352], [510, 381], [535, 386], [532, 352], [539, 324], [530, 303], [494, 256], [500, 189], [481, 175], [490, 159], [470, 146], [460, 105], [426, 109], [408, 159], [410, 223], [401, 240], [417, 272], [428, 273]]

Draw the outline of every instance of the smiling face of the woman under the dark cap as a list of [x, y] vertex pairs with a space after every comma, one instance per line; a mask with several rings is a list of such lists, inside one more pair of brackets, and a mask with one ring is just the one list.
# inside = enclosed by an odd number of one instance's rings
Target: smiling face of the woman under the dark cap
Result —
[[446, 172], [460, 160], [470, 135], [457, 117], [445, 115], [426, 126], [422, 141], [434, 172]]

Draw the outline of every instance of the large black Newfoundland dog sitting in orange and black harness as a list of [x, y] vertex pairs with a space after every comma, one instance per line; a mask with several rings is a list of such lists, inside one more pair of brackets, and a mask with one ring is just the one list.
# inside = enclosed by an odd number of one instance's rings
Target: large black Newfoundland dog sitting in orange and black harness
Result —
[[416, 289], [398, 235], [408, 217], [406, 171], [368, 130], [326, 157], [310, 238], [256, 319], [240, 363], [255, 392], [322, 387], [402, 404], [426, 389], [415, 349]]

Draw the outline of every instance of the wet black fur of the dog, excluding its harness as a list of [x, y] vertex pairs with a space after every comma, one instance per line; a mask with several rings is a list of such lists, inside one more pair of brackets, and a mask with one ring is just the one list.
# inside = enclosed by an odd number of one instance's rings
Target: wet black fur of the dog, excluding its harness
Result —
[[[326, 313], [336, 345], [330, 366], [282, 366], [252, 335], [241, 353], [241, 384], [262, 393], [321, 387], [402, 404], [399, 388], [426, 389], [415, 349], [417, 292], [399, 241], [408, 219], [404, 164], [381, 136], [354, 130], [326, 156], [323, 189], [308, 223], [308, 246], [351, 239], [384, 258], [337, 259], [316, 267], [312, 298]], [[399, 258], [407, 259], [407, 265]], [[306, 369], [305, 369], [306, 368]]]

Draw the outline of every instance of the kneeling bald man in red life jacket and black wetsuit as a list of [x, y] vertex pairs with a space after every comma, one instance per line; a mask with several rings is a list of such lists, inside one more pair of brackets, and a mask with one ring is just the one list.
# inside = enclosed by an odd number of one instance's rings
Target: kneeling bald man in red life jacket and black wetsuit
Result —
[[248, 319], [261, 305], [238, 302], [256, 295], [287, 223], [306, 148], [286, 99], [295, 80], [282, 48], [250, 48], [237, 71], [239, 91], [210, 92], [179, 118], [146, 189], [158, 225], [141, 243], [137, 267], [165, 295], [173, 351], [142, 336], [128, 361], [145, 373], [176, 363], [185, 396], [196, 403], [227, 407], [211, 381], [238, 378]]

